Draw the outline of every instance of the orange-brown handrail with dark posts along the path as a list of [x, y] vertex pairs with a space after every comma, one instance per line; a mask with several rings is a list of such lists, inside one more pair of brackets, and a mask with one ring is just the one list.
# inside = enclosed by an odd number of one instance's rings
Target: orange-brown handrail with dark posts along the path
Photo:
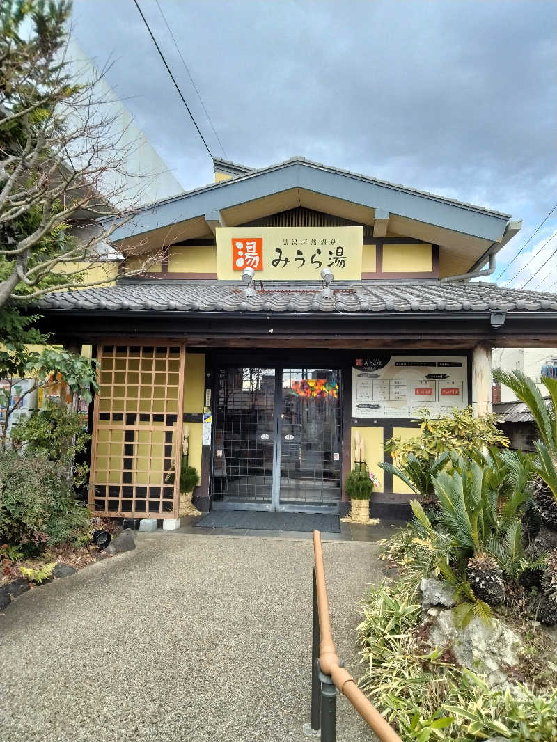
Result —
[[354, 677], [342, 667], [342, 660], [336, 654], [330, 631], [329, 601], [319, 531], [313, 531], [313, 554], [311, 728], [307, 729], [307, 734], [316, 735], [321, 729], [322, 742], [335, 742], [336, 689], [339, 689], [381, 742], [402, 742], [397, 732], [359, 689]]

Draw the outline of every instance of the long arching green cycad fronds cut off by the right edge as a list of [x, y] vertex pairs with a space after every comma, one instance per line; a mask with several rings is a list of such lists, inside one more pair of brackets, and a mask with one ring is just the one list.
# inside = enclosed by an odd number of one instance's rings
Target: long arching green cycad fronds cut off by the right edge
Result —
[[551, 399], [548, 409], [538, 387], [523, 372], [507, 373], [497, 369], [493, 372], [493, 378], [509, 387], [532, 413], [540, 436], [540, 440], [534, 441], [538, 455], [532, 471], [549, 487], [557, 503], [557, 379], [541, 379]]

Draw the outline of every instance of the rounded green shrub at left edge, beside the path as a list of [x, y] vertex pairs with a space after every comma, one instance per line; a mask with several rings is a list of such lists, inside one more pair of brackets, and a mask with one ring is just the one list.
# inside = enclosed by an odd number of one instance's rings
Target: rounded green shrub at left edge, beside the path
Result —
[[0, 543], [26, 554], [87, 542], [91, 513], [74, 498], [65, 470], [45, 456], [0, 453]]

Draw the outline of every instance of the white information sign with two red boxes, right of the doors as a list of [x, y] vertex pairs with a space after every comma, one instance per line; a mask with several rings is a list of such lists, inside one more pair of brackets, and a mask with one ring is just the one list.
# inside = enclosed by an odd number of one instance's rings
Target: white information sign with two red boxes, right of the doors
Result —
[[414, 418], [420, 407], [449, 414], [468, 405], [464, 356], [391, 355], [356, 358], [352, 365], [352, 417]]

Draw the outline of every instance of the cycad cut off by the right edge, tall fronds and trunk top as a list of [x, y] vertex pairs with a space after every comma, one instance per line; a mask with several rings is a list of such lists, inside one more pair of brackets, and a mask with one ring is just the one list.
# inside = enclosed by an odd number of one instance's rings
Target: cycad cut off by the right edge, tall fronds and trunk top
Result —
[[538, 387], [521, 371], [495, 370], [496, 381], [509, 387], [532, 413], [540, 439], [534, 441], [537, 456], [532, 466], [532, 494], [545, 525], [557, 529], [557, 379], [544, 377], [550, 405]]

